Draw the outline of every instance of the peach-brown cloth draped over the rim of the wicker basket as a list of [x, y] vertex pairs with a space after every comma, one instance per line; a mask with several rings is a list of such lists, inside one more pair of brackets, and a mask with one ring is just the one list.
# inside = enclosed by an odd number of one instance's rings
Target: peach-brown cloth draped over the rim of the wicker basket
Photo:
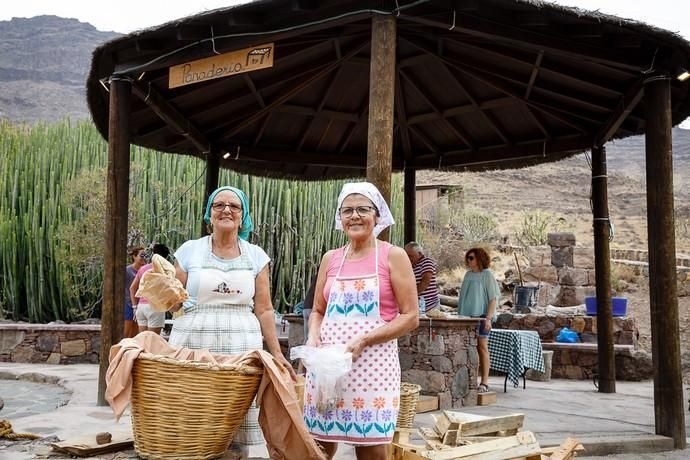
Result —
[[205, 349], [173, 347], [161, 336], [150, 331], [142, 332], [132, 339], [123, 339], [111, 347], [110, 365], [106, 373], [106, 400], [118, 420], [130, 402], [132, 367], [142, 352], [178, 360], [215, 364], [238, 363], [250, 357], [260, 360], [264, 366], [264, 373], [256, 403], [259, 406], [259, 424], [266, 439], [270, 458], [326, 459], [304, 424], [290, 374], [263, 350], [254, 350], [240, 355], [214, 355]]

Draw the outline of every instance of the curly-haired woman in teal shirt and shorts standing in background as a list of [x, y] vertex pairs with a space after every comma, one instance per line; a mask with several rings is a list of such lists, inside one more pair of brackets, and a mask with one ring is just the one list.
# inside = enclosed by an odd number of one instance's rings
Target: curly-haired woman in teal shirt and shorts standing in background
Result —
[[498, 283], [489, 265], [489, 254], [482, 248], [471, 248], [465, 253], [465, 265], [468, 268], [462, 280], [458, 296], [458, 314], [480, 318], [477, 352], [481, 380], [477, 391], [486, 393], [489, 390], [489, 332], [496, 313], [500, 296]]

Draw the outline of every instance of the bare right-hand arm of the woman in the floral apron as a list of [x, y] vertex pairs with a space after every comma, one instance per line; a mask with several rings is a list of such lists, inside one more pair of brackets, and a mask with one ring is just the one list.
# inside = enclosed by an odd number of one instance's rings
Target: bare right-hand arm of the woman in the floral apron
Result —
[[391, 248], [388, 254], [388, 266], [393, 294], [400, 308], [400, 315], [385, 326], [355, 337], [348, 344], [348, 350], [352, 351], [353, 361], [359, 357], [365, 347], [397, 339], [413, 331], [419, 325], [417, 284], [412, 272], [412, 264], [405, 251], [398, 247]]

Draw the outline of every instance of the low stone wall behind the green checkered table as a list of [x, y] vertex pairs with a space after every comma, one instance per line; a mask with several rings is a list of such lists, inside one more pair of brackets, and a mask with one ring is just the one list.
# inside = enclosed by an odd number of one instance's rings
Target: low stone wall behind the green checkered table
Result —
[[[573, 315], [535, 315], [501, 313], [496, 318], [496, 329], [520, 329], [537, 331], [542, 342], [555, 342], [562, 328], [580, 333], [583, 342], [596, 343], [597, 317]], [[639, 331], [635, 320], [629, 317], [613, 318], [613, 343], [637, 346]]]

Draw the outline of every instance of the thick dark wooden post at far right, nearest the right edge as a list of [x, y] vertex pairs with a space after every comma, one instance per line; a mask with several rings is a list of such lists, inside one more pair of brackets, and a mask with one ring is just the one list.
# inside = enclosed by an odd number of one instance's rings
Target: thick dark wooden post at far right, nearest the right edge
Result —
[[673, 438], [676, 449], [685, 449], [687, 441], [676, 295], [669, 77], [657, 75], [648, 78], [644, 98], [654, 424], [657, 434]]

